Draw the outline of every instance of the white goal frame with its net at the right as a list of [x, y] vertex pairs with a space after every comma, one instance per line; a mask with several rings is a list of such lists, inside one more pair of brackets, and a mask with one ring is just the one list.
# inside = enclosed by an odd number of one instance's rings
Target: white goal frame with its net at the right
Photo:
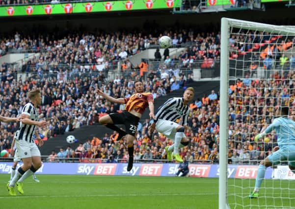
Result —
[[[249, 38], [249, 34], [256, 34], [260, 38], [256, 40], [251, 40]], [[236, 40], [230, 40], [232, 36], [239, 37]], [[255, 37], [255, 36], [254, 36]], [[218, 204], [219, 209], [229, 209], [229, 208], [292, 208], [295, 207], [295, 195], [291, 195], [291, 193], [294, 193], [295, 190], [289, 189], [289, 197], [280, 197], [280, 194], [282, 195], [284, 192], [283, 189], [275, 192], [276, 188], [280, 189], [280, 186], [287, 185], [295, 187], [295, 181], [294, 183], [290, 184], [290, 180], [288, 184], [279, 183], [276, 187], [276, 184], [274, 181], [286, 181], [286, 180], [274, 180], [272, 179], [273, 183], [265, 183], [268, 186], [264, 187], [263, 192], [269, 194], [263, 195], [262, 199], [257, 200], [249, 200], [248, 199], [248, 191], [254, 188], [255, 186], [255, 179], [245, 179], [241, 180], [234, 180], [228, 178], [228, 163], [229, 163], [229, 103], [231, 103], [231, 107], [237, 107], [238, 104], [233, 104], [232, 100], [229, 101], [229, 87], [230, 87], [230, 81], [232, 84], [237, 85], [237, 80], [240, 79], [241, 81], [245, 78], [249, 78], [250, 81], [255, 80], [255, 82], [259, 82], [261, 79], [266, 81], [266, 84], [271, 82], [276, 82], [275, 80], [275, 73], [281, 73], [282, 76], [290, 76], [288, 73], [290, 73], [291, 70], [295, 70], [295, 60], [294, 60], [294, 66], [292, 67], [292, 62], [290, 60], [291, 55], [293, 55], [293, 46], [294, 46], [294, 40], [295, 40], [295, 27], [294, 26], [283, 26], [283, 25], [271, 25], [271, 24], [264, 24], [264, 23], [255, 23], [255, 22], [249, 22], [249, 21], [242, 21], [242, 20], [235, 20], [235, 19], [229, 19], [229, 18], [222, 18], [221, 19], [221, 37], [220, 37], [221, 43], [220, 43], [220, 118], [219, 118], [219, 192], [218, 192]], [[257, 42], [257, 40], [259, 40]], [[289, 41], [292, 41], [290, 43]], [[247, 47], [246, 47], [247, 46]], [[267, 49], [269, 47], [269, 50]], [[278, 50], [279, 47], [279, 50]], [[271, 51], [271, 50], [276, 50]], [[295, 51], [295, 50], [294, 50]], [[264, 54], [263, 54], [264, 53]], [[271, 53], [271, 54], [269, 54]], [[270, 56], [271, 55], [271, 56]], [[284, 57], [287, 56], [289, 62], [284, 62], [284, 59], [278, 59], [278, 57]], [[271, 57], [271, 58], [269, 58]], [[294, 56], [295, 57], [295, 52]], [[272, 62], [272, 66], [268, 66], [268, 62], [266, 61], [266, 58], [269, 58], [269, 63]], [[257, 63], [257, 68], [254, 72], [254, 67], [252, 69], [253, 63]], [[253, 71], [251, 71], [253, 70]], [[289, 71], [290, 70], [290, 71]], [[288, 79], [292, 79], [289, 77]], [[295, 82], [295, 81], [293, 81]], [[244, 85], [244, 84], [242, 84]], [[242, 86], [243, 88], [244, 86]], [[254, 88], [246, 87], [249, 91], [256, 91], [261, 90], [260, 88]], [[286, 89], [286, 86], [277, 87], [280, 89], [279, 91], [283, 91], [283, 88]], [[293, 90], [293, 89], [292, 89]], [[289, 94], [292, 92], [292, 90], [288, 90]], [[259, 93], [258, 93], [259, 94]], [[261, 96], [261, 94], [260, 94]], [[264, 96], [264, 95], [262, 95]], [[244, 108], [243, 104], [244, 101], [246, 101], [246, 98], [243, 96], [241, 97], [241, 103], [239, 107]], [[251, 97], [251, 96], [250, 96]], [[253, 97], [254, 98], [254, 97]], [[259, 97], [260, 98], [260, 97]], [[234, 98], [236, 99], [236, 98]], [[251, 99], [251, 98], [250, 98]], [[275, 99], [275, 96], [272, 97], [272, 99]], [[238, 100], [238, 98], [237, 98]], [[262, 99], [263, 100], [263, 99]], [[284, 99], [282, 99], [283, 101]], [[282, 102], [280, 100], [280, 102]], [[285, 101], [285, 100], [284, 100]], [[280, 104], [279, 104], [280, 105]], [[255, 104], [254, 104], [255, 106]], [[247, 107], [249, 108], [250, 105]], [[255, 107], [254, 107], [255, 108]], [[259, 105], [257, 105], [257, 109], [264, 108]], [[239, 108], [238, 108], [239, 109]], [[273, 107], [275, 109], [275, 107]], [[234, 110], [235, 112], [236, 110]], [[250, 112], [250, 111], [249, 111]], [[236, 113], [236, 112], [235, 112]], [[243, 115], [241, 111], [240, 115], [243, 118], [246, 115]], [[267, 115], [262, 115], [262, 118], [266, 118]], [[257, 115], [258, 117], [258, 115]], [[236, 118], [236, 117], [235, 117]], [[258, 120], [258, 119], [257, 119]], [[260, 121], [261, 122], [261, 121]], [[260, 123], [259, 122], [259, 123]], [[236, 121], [231, 121], [231, 124], [235, 127]], [[239, 126], [250, 126], [250, 124], [246, 124], [246, 122], [241, 121], [239, 122]], [[258, 123], [255, 123], [255, 125], [258, 125]], [[260, 124], [261, 125], [261, 124]], [[262, 124], [263, 126], [269, 125], [264, 121]], [[258, 128], [257, 128], [258, 129]], [[251, 131], [251, 130], [250, 130]], [[251, 136], [251, 133], [247, 133], [249, 136]], [[252, 133], [254, 134], [254, 133]], [[247, 135], [247, 136], [248, 136]], [[251, 137], [247, 138], [247, 140], [250, 140]], [[241, 143], [243, 144], [243, 139], [231, 139], [233, 140], [233, 143], [236, 144]], [[250, 140], [253, 142], [253, 138]], [[255, 143], [255, 142], [254, 142]], [[264, 143], [264, 141], [262, 141]], [[275, 144], [273, 142], [273, 144]], [[258, 146], [258, 145], [257, 145]], [[236, 148], [236, 147], [235, 147]], [[240, 147], [241, 148], [241, 147]], [[241, 148], [241, 150], [243, 150]], [[247, 152], [247, 151], [245, 151]], [[248, 159], [246, 161], [245, 159], [241, 158], [241, 161], [239, 164], [247, 164], [252, 165], [253, 167], [257, 166], [260, 161], [256, 160], [251, 161]], [[272, 169], [272, 168], [271, 168]], [[274, 171], [272, 174], [275, 173]], [[230, 176], [231, 178], [233, 176]], [[234, 188], [231, 189], [231, 194], [234, 197], [234, 202], [229, 201], [229, 192], [228, 191], [228, 185], [229, 181], [231, 181], [231, 186]], [[273, 195], [273, 200], [269, 201]], [[276, 195], [276, 196], [274, 196]], [[232, 199], [232, 198], [231, 198]], [[286, 204], [285, 202], [286, 201]], [[293, 203], [291, 203], [293, 202]]]

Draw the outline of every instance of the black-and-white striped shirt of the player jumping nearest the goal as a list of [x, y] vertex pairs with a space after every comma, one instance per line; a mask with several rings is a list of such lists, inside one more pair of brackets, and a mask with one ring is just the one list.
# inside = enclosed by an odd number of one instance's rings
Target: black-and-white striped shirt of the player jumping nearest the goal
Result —
[[183, 97], [173, 97], [168, 99], [161, 107], [158, 108], [156, 119], [163, 119], [175, 122], [176, 119], [182, 118], [182, 125], [188, 124], [189, 106], [184, 104]]

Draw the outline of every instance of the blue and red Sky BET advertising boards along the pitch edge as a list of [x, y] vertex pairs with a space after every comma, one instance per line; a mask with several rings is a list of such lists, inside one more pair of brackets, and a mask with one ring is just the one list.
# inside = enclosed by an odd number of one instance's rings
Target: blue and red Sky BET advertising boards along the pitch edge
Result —
[[[1, 162], [0, 174], [11, 173], [12, 163]], [[19, 163], [18, 166], [21, 166]], [[107, 176], [175, 176], [177, 163], [134, 163], [128, 172], [127, 163], [43, 163], [37, 174], [107, 175]], [[258, 165], [228, 165], [228, 178], [255, 179]], [[189, 164], [190, 177], [218, 178], [218, 164]], [[266, 179], [295, 180], [288, 166], [268, 167]]]

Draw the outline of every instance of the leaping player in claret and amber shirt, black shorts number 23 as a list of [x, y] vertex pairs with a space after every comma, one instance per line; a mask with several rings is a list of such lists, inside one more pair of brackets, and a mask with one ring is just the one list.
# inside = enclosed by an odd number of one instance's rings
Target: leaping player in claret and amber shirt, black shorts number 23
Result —
[[[135, 132], [137, 130], [137, 125], [141, 115], [144, 113], [145, 109], [149, 107], [150, 117], [155, 118], [154, 115], [154, 98], [152, 93], [143, 93], [144, 87], [140, 81], [134, 82], [134, 87], [136, 93], [131, 95], [129, 98], [113, 98], [101, 90], [97, 93], [108, 101], [120, 104], [126, 104], [125, 110], [122, 113], [111, 113], [107, 116], [102, 116], [99, 118], [99, 122], [102, 125], [107, 126], [119, 133], [118, 140], [127, 134], [127, 148], [129, 154], [129, 161], [127, 170], [130, 171], [133, 167], [133, 154], [134, 154], [134, 144]], [[119, 129], [115, 124], [124, 124], [125, 130]]]

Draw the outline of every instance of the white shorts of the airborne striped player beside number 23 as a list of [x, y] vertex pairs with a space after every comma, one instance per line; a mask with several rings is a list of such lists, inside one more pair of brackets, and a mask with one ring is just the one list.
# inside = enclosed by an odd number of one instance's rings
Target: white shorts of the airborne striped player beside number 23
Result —
[[174, 141], [176, 128], [180, 126], [178, 123], [169, 121], [169, 120], [162, 120], [159, 119], [156, 123], [156, 128], [158, 132], [165, 135], [168, 139]]

